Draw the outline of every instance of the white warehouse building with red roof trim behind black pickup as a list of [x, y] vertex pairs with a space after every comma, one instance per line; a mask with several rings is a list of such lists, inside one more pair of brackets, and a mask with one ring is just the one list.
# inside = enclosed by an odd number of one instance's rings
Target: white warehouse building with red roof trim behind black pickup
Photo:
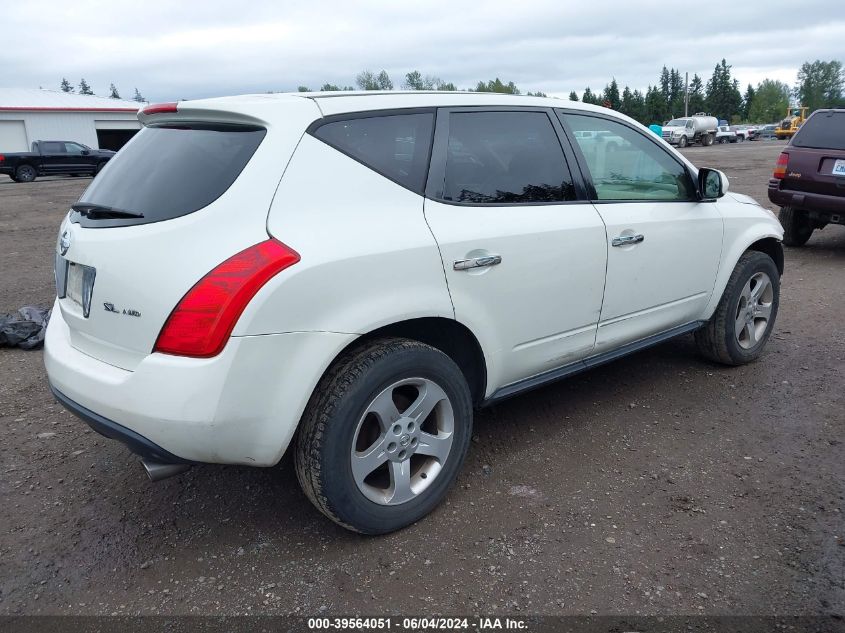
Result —
[[76, 141], [118, 150], [141, 129], [145, 104], [58, 90], [0, 88], [0, 153], [30, 151], [33, 141]]

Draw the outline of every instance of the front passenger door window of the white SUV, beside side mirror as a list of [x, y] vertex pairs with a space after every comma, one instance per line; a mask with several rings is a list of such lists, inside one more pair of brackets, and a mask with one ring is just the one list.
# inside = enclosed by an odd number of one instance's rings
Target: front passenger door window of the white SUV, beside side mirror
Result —
[[572, 128], [599, 200], [693, 200], [686, 168], [646, 136], [621, 123], [562, 114]]

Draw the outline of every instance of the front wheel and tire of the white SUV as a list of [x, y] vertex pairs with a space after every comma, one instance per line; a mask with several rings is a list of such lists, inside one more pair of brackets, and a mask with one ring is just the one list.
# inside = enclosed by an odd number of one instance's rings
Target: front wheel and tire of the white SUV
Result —
[[780, 305], [780, 273], [772, 258], [747, 251], [739, 258], [710, 320], [695, 333], [701, 354], [724, 365], [757, 360]]

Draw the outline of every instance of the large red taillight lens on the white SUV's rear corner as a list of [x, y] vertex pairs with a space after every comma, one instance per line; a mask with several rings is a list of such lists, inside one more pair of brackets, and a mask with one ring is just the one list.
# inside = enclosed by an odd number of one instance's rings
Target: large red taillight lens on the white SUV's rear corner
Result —
[[299, 253], [267, 240], [233, 255], [200, 279], [167, 318], [154, 352], [208, 358], [219, 354], [255, 294]]

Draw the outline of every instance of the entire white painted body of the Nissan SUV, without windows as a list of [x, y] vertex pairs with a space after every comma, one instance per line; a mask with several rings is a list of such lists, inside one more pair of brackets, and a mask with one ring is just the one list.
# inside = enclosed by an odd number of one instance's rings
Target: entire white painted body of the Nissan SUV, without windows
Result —
[[[461, 208], [409, 191], [306, 133], [333, 114], [466, 105], [608, 114], [536, 97], [397, 92], [247, 95], [142, 115], [144, 123], [258, 124], [267, 136], [234, 184], [199, 211], [108, 229], [65, 221], [67, 257], [96, 267], [97, 277], [87, 319], [72, 302], [56, 303], [44, 354], [53, 388], [178, 458], [269, 466], [326, 369], [362, 335], [421, 317], [457, 320], [481, 347], [489, 397], [709, 318], [749, 245], [782, 237], [770, 213], [730, 193], [707, 203]], [[645, 241], [610, 246], [626, 231]], [[221, 353], [151, 352], [194, 283], [270, 237], [301, 260], [255, 294]], [[452, 269], [479, 250], [502, 263]], [[141, 318], [110, 314], [106, 301]]]

